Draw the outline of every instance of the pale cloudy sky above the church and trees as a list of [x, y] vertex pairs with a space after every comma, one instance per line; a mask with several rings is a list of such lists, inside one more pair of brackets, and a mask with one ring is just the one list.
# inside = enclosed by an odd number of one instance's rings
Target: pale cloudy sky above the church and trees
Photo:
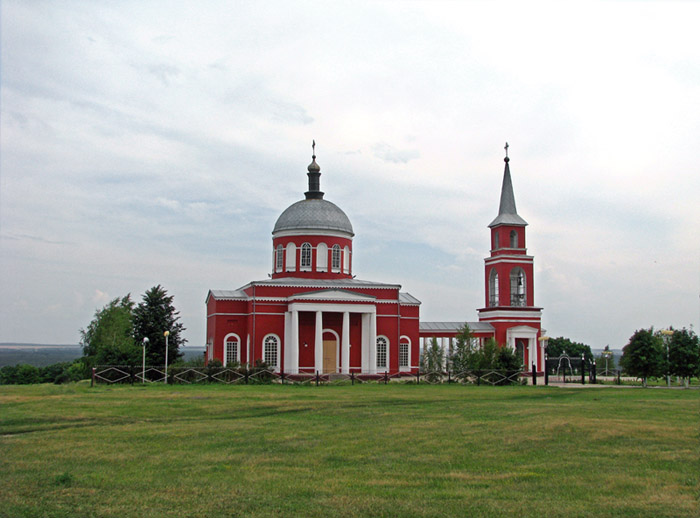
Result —
[[700, 2], [3, 0], [0, 341], [267, 278], [307, 187], [354, 273], [477, 320], [510, 144], [550, 336], [700, 325]]

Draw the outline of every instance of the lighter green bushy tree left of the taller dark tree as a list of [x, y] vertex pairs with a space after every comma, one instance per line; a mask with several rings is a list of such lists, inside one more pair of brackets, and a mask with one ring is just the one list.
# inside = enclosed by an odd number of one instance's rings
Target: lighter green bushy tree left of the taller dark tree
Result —
[[138, 362], [140, 348], [134, 343], [133, 309], [130, 295], [116, 298], [95, 312], [87, 329], [80, 330], [80, 345], [88, 368]]

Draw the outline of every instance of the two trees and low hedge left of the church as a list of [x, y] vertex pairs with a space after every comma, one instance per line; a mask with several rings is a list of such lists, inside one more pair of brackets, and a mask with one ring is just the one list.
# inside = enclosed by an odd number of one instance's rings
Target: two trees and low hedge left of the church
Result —
[[[0, 384], [65, 383], [90, 377], [96, 365], [168, 365], [182, 357], [184, 325], [173, 305], [174, 297], [160, 285], [147, 290], [136, 304], [131, 295], [117, 297], [95, 312], [80, 330], [83, 356], [73, 362], [46, 367], [18, 364], [0, 369]], [[167, 332], [167, 339], [166, 339]]]

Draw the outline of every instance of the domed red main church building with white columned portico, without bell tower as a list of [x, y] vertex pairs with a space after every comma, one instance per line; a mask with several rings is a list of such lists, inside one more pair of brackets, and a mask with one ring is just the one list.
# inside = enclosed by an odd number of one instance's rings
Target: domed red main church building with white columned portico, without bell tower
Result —
[[270, 279], [207, 296], [207, 358], [287, 374], [416, 373], [420, 302], [352, 273], [352, 224], [323, 198], [316, 155], [305, 199], [272, 231]]

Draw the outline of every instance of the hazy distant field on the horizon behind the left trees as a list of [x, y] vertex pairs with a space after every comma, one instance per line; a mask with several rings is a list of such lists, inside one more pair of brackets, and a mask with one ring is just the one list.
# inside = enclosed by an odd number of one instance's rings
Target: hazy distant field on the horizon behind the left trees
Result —
[[[184, 359], [201, 358], [203, 347], [185, 347]], [[0, 343], [0, 367], [27, 363], [45, 367], [60, 362], [70, 362], [83, 355], [79, 345]]]

